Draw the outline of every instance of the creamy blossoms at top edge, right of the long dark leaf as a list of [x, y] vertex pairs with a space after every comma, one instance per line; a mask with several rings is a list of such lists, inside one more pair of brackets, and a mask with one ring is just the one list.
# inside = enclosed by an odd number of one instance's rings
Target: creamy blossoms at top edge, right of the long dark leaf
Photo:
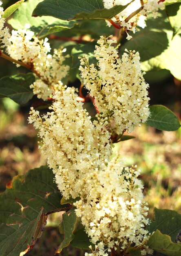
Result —
[[[110, 9], [115, 5], [126, 5], [130, 3], [130, 0], [103, 0], [104, 7]], [[142, 8], [139, 13], [134, 15], [130, 20], [125, 22], [126, 18], [132, 13], [137, 11], [139, 8]], [[146, 16], [148, 13], [151, 13], [153, 18], [157, 18], [158, 10], [164, 8], [163, 2], [158, 3], [157, 0], [135, 0], [131, 2], [126, 9], [118, 13], [112, 20], [118, 22], [126, 31], [127, 39], [130, 40], [132, 36], [128, 34], [128, 31], [132, 31], [134, 34], [136, 32], [136, 26], [146, 27]], [[107, 25], [110, 26], [110, 23], [107, 22]]]

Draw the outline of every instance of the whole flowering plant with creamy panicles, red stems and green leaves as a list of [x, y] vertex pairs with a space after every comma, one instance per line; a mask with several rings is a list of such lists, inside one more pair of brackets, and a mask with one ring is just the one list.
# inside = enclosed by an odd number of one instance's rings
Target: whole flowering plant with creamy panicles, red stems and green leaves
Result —
[[[10, 31], [4, 23], [14, 11]], [[0, 203], [0, 245], [13, 241], [0, 247], [2, 256], [29, 252], [56, 211], [65, 213], [64, 240], [55, 253], [71, 244], [89, 249], [86, 256], [180, 255], [174, 237], [181, 216], [156, 209], [155, 221], [149, 220], [137, 166], [113, 156], [115, 144], [131, 139], [126, 132], [142, 123], [167, 131], [180, 127], [168, 108], [149, 106], [144, 79], [154, 68], [181, 79], [180, 49], [174, 52], [181, 42], [180, 11], [181, 2], [174, 0], [21, 0], [5, 11], [0, 7], [0, 56], [15, 63], [17, 72], [20, 66], [31, 71], [2, 77], [0, 94], [22, 105], [33, 95], [40, 100], [46, 112], [32, 100], [28, 120], [38, 129], [48, 164], [15, 177], [0, 195], [6, 202]], [[58, 47], [46, 36], [58, 40]], [[17, 79], [22, 86], [15, 88]], [[93, 117], [86, 102], [93, 103]], [[33, 189], [35, 180], [41, 180], [44, 197]], [[171, 231], [164, 228], [168, 216]]]

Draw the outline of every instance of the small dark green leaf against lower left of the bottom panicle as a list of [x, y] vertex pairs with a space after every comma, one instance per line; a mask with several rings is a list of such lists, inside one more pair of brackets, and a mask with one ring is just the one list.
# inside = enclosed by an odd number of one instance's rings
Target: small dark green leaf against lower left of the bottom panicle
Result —
[[79, 229], [74, 233], [74, 238], [71, 241], [70, 245], [79, 248], [79, 249], [90, 249], [89, 246], [92, 245], [92, 248], [95, 247], [90, 242], [90, 238], [86, 234], [86, 231], [83, 229]]

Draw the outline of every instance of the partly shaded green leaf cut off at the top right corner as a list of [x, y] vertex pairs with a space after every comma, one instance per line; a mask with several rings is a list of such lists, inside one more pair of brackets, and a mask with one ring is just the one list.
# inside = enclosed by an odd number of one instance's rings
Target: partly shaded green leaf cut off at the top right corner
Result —
[[166, 13], [173, 28], [174, 35], [181, 33], [181, 2], [166, 6]]

